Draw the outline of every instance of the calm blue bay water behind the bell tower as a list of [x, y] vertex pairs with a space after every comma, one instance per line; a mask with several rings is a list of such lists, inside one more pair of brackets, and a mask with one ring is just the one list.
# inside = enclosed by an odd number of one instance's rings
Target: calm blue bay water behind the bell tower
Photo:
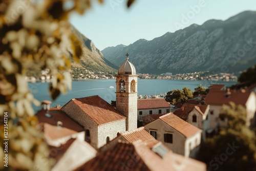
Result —
[[[173, 89], [182, 89], [187, 87], [194, 91], [198, 86], [208, 88], [210, 84], [225, 84], [231, 86], [235, 84], [234, 81], [191, 81], [191, 80], [165, 80], [165, 79], [138, 79], [138, 95], [155, 95], [164, 94]], [[110, 86], [114, 86], [114, 89], [110, 89]], [[49, 94], [49, 83], [29, 83], [29, 88], [32, 91], [34, 97], [39, 100], [51, 100]], [[115, 79], [86, 79], [86, 80], [73, 80], [72, 90], [68, 91], [66, 95], [61, 94], [51, 106], [60, 104], [61, 106], [66, 104], [72, 98], [87, 97], [99, 95], [104, 100], [111, 103], [111, 100], [116, 99], [116, 83]], [[33, 106], [34, 110], [39, 110], [40, 107]]]

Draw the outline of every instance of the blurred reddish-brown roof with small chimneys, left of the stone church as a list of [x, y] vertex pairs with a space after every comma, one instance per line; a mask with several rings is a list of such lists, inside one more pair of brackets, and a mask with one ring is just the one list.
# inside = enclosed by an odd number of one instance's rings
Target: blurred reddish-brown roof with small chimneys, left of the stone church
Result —
[[[61, 127], [63, 129], [67, 129], [69, 131], [72, 130], [75, 133], [84, 131], [83, 127], [79, 123], [75, 122], [65, 112], [61, 110], [50, 110], [50, 111], [40, 110], [35, 115], [38, 118], [38, 122], [42, 126], [44, 125], [44, 123], [48, 123], [56, 127], [57, 122], [61, 121], [62, 122]], [[50, 116], [50, 118], [47, 116]], [[50, 129], [51, 127], [50, 125], [47, 126], [47, 129]], [[49, 134], [51, 134], [51, 132], [49, 132]]]

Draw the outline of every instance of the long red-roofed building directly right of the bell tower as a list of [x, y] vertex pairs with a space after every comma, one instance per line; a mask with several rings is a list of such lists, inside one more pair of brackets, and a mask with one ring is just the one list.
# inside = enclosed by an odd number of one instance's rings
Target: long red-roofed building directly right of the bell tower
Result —
[[138, 120], [147, 115], [164, 114], [170, 112], [170, 104], [164, 99], [141, 99], [138, 100]]

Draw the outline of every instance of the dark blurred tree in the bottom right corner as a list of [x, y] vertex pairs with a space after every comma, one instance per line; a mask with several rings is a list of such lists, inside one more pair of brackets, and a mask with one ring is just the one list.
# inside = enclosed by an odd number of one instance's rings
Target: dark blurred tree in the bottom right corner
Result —
[[245, 126], [245, 108], [230, 102], [223, 105], [220, 117], [228, 119], [226, 129], [201, 144], [198, 159], [209, 170], [255, 170], [256, 136]]

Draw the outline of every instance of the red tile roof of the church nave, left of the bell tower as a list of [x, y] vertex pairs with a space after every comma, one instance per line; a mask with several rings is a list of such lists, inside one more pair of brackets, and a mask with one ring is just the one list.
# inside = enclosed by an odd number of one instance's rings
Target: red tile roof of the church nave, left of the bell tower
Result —
[[99, 125], [126, 118], [99, 96], [75, 98], [72, 101]]

